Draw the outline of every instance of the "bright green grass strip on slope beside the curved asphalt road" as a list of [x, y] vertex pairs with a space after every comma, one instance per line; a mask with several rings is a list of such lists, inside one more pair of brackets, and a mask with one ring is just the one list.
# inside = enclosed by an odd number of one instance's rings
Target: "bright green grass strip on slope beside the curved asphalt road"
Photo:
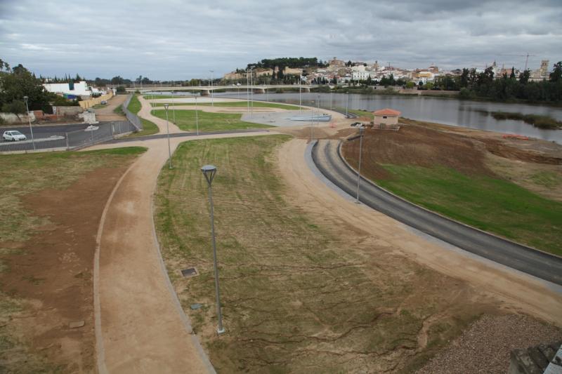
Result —
[[562, 255], [562, 203], [485, 175], [452, 168], [384, 165], [386, 189], [447, 217]]

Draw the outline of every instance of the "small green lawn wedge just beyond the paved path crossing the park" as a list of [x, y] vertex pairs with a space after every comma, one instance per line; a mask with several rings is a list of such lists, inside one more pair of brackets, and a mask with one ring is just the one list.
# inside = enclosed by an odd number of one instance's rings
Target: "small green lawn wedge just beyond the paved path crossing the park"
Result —
[[[164, 109], [153, 110], [152, 115], [161, 119], [166, 119]], [[270, 128], [273, 126], [260, 123], [242, 121], [242, 114], [209, 113], [197, 111], [199, 131], [225, 131], [240, 130], [246, 128]], [[168, 119], [174, 119], [173, 114], [168, 112]], [[176, 110], [176, 125], [183, 131], [196, 131], [195, 110]]]

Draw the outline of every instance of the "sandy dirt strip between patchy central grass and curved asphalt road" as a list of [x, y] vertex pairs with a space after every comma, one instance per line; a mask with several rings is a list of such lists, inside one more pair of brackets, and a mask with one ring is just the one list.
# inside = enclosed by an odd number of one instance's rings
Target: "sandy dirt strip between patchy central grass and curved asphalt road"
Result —
[[483, 292], [502, 300], [502, 309], [525, 312], [562, 326], [562, 295], [544, 282], [473, 258], [463, 251], [422, 236], [371, 208], [356, 205], [327, 187], [303, 162], [306, 140], [287, 142], [278, 153], [279, 165], [294, 192], [292, 199], [307, 211], [322, 217], [334, 229], [345, 224], [366, 230], [377, 242], [396, 248], [417, 262], [438, 272], [469, 281]]

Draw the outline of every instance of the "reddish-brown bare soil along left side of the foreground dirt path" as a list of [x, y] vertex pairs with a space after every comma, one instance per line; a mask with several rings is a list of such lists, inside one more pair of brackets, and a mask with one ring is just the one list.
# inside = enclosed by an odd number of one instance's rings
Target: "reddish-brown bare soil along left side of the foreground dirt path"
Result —
[[[25, 208], [48, 225], [25, 242], [8, 242], [11, 255], [3, 256], [9, 272], [0, 284], [25, 308], [7, 328], [28, 343], [16, 345], [0, 362], [6, 367], [31, 370], [32, 356], [63, 372], [94, 372], [92, 301], [93, 253], [103, 206], [126, 166], [98, 168], [67, 189], [44, 189], [23, 196]], [[84, 326], [70, 328], [70, 323]], [[35, 368], [37, 370], [37, 368]], [[1, 370], [0, 370], [1, 371]]]

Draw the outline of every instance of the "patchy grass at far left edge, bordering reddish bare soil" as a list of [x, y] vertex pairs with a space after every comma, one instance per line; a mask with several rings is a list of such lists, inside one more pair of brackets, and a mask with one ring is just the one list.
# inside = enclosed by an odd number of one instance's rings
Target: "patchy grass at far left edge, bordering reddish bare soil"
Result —
[[[9, 259], [14, 255], [27, 255], [27, 251], [32, 246], [28, 244], [29, 242], [22, 246], [14, 243], [28, 241], [35, 234], [45, 232], [45, 227], [50, 231], [53, 230], [53, 223], [49, 218], [38, 217], [27, 211], [22, 199], [44, 189], [66, 189], [83, 178], [86, 173], [98, 168], [122, 168], [142, 152], [145, 152], [143, 147], [127, 147], [90, 152], [45, 152], [0, 156], [2, 164], [13, 166], [0, 170], [2, 189], [0, 204], [4, 207], [0, 211], [0, 372], [63, 373], [69, 370], [54, 365], [44, 357], [44, 352], [37, 351], [37, 340], [30, 342], [30, 334], [34, 338], [39, 337], [44, 331], [48, 331], [48, 328], [53, 327], [42, 324], [41, 332], [38, 332], [34, 323], [29, 323], [37, 320], [37, 313], [45, 312], [43, 308], [46, 307], [41, 302], [41, 296], [34, 300], [22, 299], [15, 292], [17, 282], [11, 282], [16, 276], [14, 274], [25, 274], [24, 281], [28, 280], [34, 286], [41, 286], [44, 279], [36, 278], [37, 274], [28, 270], [33, 264], [30, 263], [23, 269], [12, 269]], [[60, 206], [61, 211], [65, 208], [64, 204]], [[55, 246], [56, 243], [46, 243], [47, 248], [48, 245]], [[75, 248], [70, 246], [67, 251], [75, 251]], [[58, 261], [65, 262], [63, 258], [59, 258]], [[56, 272], [57, 269], [53, 271]], [[56, 274], [53, 274], [53, 277], [55, 276]], [[57, 290], [56, 293], [60, 294], [61, 291]], [[79, 308], [84, 302], [88, 301], [76, 300], [75, 307]], [[41, 311], [37, 312], [37, 309]], [[27, 335], [21, 331], [22, 324], [30, 325], [25, 328]], [[65, 327], [55, 326], [57, 330], [61, 328]], [[87, 356], [87, 352], [83, 354]]]

